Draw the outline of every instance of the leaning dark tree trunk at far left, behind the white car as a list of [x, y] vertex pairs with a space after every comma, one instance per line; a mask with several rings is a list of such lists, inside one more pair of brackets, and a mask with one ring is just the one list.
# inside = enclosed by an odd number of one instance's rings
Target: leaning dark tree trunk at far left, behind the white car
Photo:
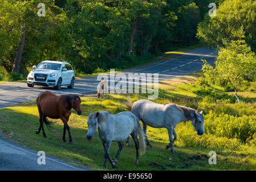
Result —
[[19, 69], [21, 68], [21, 58], [22, 58], [22, 52], [25, 44], [26, 28], [22, 27], [21, 31], [22, 31], [21, 40], [19, 41], [19, 46], [17, 48], [17, 52], [15, 55], [13, 71], [12, 71], [16, 73], [19, 73]]

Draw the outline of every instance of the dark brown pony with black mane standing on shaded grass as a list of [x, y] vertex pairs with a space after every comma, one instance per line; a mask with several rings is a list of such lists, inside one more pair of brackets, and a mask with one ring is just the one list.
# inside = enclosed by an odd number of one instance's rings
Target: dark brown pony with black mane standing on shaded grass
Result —
[[40, 115], [40, 126], [36, 134], [40, 133], [40, 130], [43, 130], [43, 137], [46, 138], [46, 134], [43, 129], [43, 122], [48, 125], [50, 122], [46, 117], [52, 119], [62, 119], [64, 123], [63, 129], [63, 142], [66, 142], [65, 135], [66, 129], [68, 130], [68, 136], [70, 138], [70, 143], [72, 143], [72, 137], [70, 134], [70, 126], [68, 126], [67, 122], [70, 118], [71, 109], [75, 109], [78, 112], [78, 115], [82, 114], [82, 110], [80, 109], [81, 99], [76, 95], [61, 95], [56, 96], [56, 94], [44, 91], [38, 95], [36, 98], [36, 104], [38, 106], [38, 111]]

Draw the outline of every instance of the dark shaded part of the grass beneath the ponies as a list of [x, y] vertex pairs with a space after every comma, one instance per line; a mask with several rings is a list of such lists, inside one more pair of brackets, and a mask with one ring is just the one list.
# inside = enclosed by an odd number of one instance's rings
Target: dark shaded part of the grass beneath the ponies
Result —
[[[96, 111], [96, 110], [93, 110]], [[71, 116], [74, 117], [75, 114]], [[85, 116], [82, 116], [86, 119]], [[97, 134], [91, 141], [86, 139], [87, 126], [71, 127], [74, 144], [63, 143], [63, 125], [54, 122], [51, 132], [46, 130], [47, 138], [42, 133], [36, 135], [39, 127], [39, 118], [27, 113], [15, 112], [11, 108], [0, 109], [0, 126], [3, 137], [15, 140], [34, 150], [45, 151], [48, 154], [58, 156], [72, 164], [92, 169], [101, 169], [104, 162], [104, 150]], [[74, 122], [71, 117], [70, 122]], [[232, 160], [220, 156], [217, 165], [209, 165], [208, 151], [202, 149], [174, 147], [177, 154], [165, 150], [167, 142], [151, 140], [153, 148], [147, 147], [146, 154], [140, 157], [139, 166], [135, 167], [133, 162], [136, 158], [135, 144], [130, 140], [131, 146], [125, 146], [121, 151], [119, 163], [115, 170], [216, 170], [216, 169], [250, 169], [245, 159]], [[112, 142], [109, 154], [113, 157], [118, 150], [116, 142]], [[171, 159], [170, 159], [171, 158]], [[112, 169], [107, 163], [107, 169]]]

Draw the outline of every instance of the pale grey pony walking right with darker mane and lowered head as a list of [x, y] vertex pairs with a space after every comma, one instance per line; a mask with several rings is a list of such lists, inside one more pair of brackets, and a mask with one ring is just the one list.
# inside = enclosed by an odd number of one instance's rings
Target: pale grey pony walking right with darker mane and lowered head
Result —
[[[176, 152], [173, 149], [173, 143], [177, 138], [174, 128], [182, 121], [192, 121], [194, 129], [198, 135], [204, 134], [204, 117], [202, 111], [176, 105], [173, 103], [157, 104], [149, 100], [139, 100], [132, 103], [131, 99], [126, 102], [126, 108], [131, 110], [136, 117], [143, 122], [143, 130], [147, 145], [152, 147], [147, 138], [147, 125], [155, 128], [165, 127], [168, 130], [170, 143], [166, 149], [170, 147], [171, 152]], [[174, 135], [174, 139], [173, 139]], [[127, 139], [129, 146], [129, 137]]]

